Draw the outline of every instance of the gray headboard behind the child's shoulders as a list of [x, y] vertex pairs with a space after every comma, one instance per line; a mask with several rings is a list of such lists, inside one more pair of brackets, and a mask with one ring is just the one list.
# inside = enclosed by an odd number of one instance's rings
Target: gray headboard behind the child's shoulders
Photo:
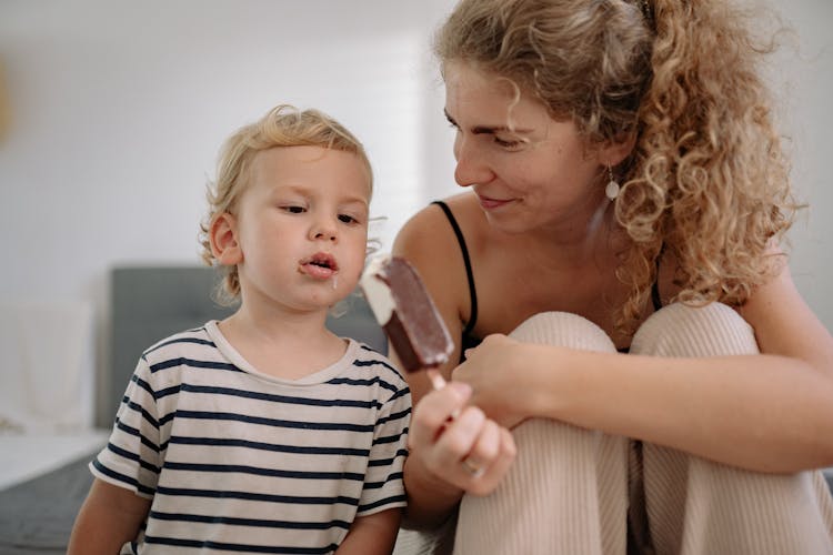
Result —
[[[103, 400], [106, 410], [99, 412], [108, 421], [98, 423], [100, 426], [112, 425], [128, 381], [145, 349], [172, 333], [231, 314], [233, 309], [212, 301], [217, 280], [213, 269], [200, 265], [122, 266], [111, 271], [110, 387]], [[352, 294], [347, 309], [339, 317], [328, 317], [328, 327], [387, 353], [387, 339], [364, 297]]]

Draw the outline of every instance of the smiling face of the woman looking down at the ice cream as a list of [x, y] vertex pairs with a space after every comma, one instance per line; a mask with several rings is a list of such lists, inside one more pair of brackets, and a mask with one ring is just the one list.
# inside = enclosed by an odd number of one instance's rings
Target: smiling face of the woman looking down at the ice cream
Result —
[[572, 121], [553, 120], [525, 92], [515, 99], [509, 80], [465, 62], [446, 62], [444, 77], [454, 179], [473, 189], [492, 225], [519, 233], [598, 212], [604, 165]]

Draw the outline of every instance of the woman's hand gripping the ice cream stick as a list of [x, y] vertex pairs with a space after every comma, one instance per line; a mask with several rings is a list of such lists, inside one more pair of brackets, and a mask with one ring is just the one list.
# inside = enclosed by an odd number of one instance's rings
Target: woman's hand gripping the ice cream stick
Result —
[[411, 418], [409, 447], [434, 477], [475, 495], [500, 484], [514, 461], [512, 434], [468, 406], [471, 387], [451, 382], [425, 395]]

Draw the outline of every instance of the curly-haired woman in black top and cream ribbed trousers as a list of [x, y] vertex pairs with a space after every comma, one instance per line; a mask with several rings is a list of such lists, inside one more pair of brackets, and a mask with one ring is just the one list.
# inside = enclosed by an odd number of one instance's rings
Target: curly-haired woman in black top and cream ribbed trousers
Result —
[[410, 526], [459, 513], [455, 553], [833, 553], [833, 339], [779, 246], [796, 205], [744, 26], [725, 0], [451, 13], [468, 191], [394, 244], [461, 337], [449, 386], [410, 381]]

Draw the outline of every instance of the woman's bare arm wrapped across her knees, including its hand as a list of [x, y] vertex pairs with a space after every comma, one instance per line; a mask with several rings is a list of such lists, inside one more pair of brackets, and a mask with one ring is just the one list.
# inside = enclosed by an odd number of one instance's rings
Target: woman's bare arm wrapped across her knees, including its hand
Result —
[[833, 464], [833, 339], [786, 266], [742, 315], [763, 355], [600, 354], [492, 336], [454, 379], [505, 425], [556, 418], [761, 472]]

